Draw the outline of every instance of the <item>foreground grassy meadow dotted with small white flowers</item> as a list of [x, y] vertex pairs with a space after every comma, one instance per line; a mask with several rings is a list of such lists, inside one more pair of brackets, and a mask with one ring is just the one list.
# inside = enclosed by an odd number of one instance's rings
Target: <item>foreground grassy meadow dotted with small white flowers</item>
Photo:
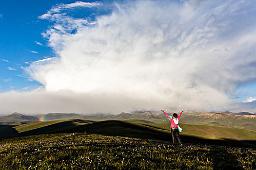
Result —
[[256, 150], [96, 134], [0, 141], [1, 170], [254, 170]]

